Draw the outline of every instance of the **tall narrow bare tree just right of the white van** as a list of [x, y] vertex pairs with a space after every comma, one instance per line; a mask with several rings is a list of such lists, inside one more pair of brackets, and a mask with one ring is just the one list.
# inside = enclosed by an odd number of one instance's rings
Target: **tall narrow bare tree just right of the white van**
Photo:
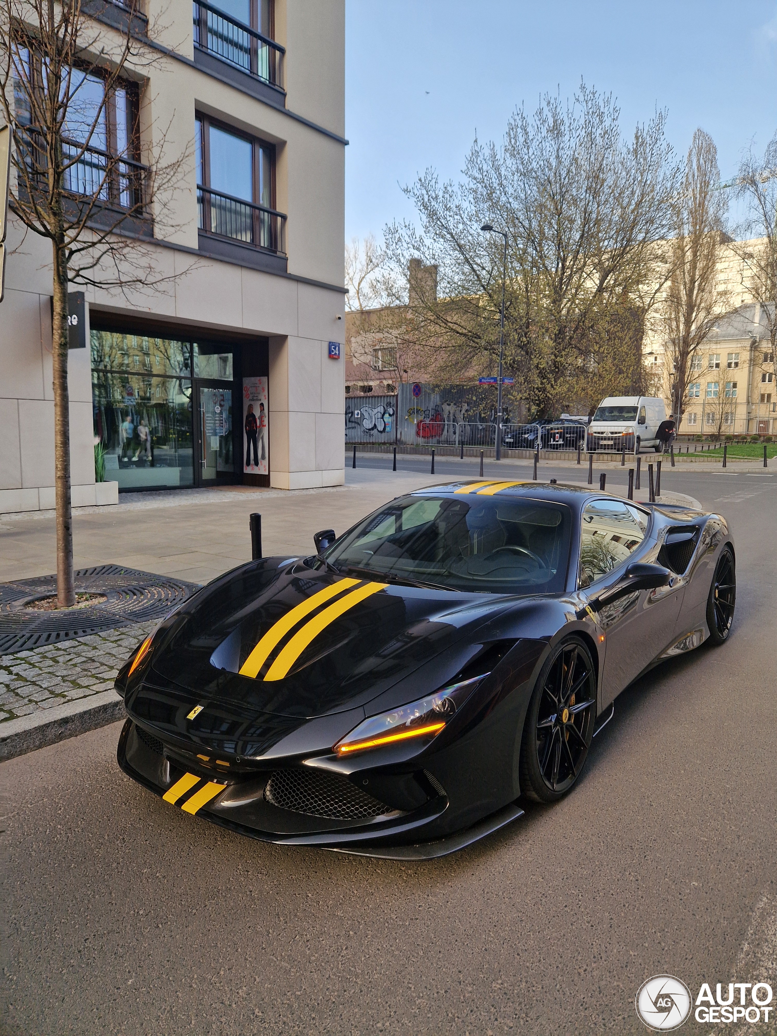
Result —
[[730, 308], [728, 292], [718, 285], [718, 261], [727, 239], [725, 214], [715, 142], [703, 130], [696, 130], [688, 149], [682, 189], [672, 205], [670, 277], [661, 307], [671, 408], [678, 428], [692, 379], [693, 358], [716, 321]]

